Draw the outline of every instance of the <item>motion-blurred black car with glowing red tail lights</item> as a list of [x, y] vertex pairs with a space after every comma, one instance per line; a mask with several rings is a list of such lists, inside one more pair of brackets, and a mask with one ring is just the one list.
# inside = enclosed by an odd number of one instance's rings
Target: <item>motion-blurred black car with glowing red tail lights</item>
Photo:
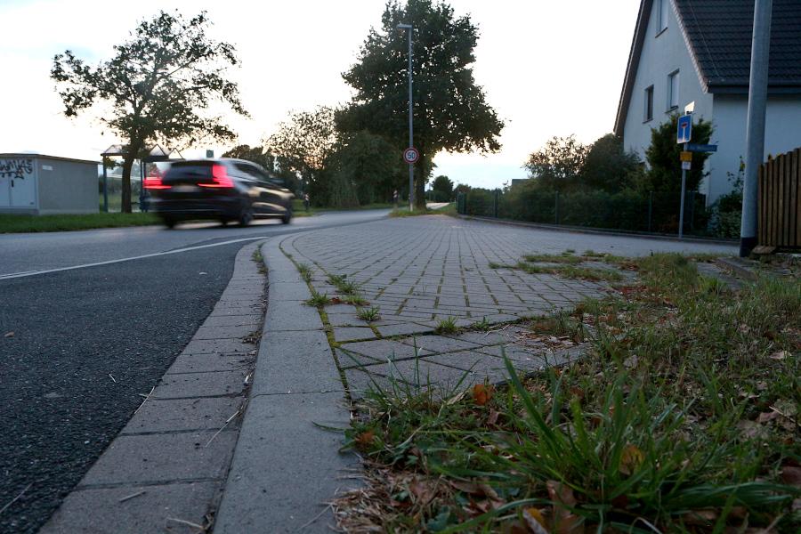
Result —
[[289, 190], [271, 182], [260, 166], [242, 159], [174, 162], [164, 174], [148, 176], [150, 206], [172, 228], [180, 221], [214, 219], [246, 226], [255, 217], [292, 220]]

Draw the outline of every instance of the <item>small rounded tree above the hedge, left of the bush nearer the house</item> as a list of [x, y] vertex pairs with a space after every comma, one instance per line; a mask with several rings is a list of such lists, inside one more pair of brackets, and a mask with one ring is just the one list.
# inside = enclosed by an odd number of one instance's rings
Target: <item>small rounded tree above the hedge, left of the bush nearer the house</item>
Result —
[[540, 187], [560, 192], [570, 190], [578, 184], [588, 150], [587, 145], [576, 141], [575, 135], [554, 136], [545, 147], [531, 153], [525, 168]]

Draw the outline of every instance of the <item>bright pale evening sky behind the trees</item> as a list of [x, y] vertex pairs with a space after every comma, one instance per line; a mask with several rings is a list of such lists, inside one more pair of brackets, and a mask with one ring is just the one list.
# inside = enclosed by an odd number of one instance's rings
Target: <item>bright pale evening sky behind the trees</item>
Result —
[[[525, 177], [526, 157], [552, 135], [593, 142], [611, 132], [639, 0], [450, 4], [479, 26], [475, 78], [506, 127], [497, 154], [443, 153], [434, 159], [437, 174], [499, 187]], [[231, 77], [252, 118], [230, 124], [239, 142], [258, 144], [292, 109], [349, 100], [341, 73], [380, 24], [384, 1], [0, 0], [0, 152], [99, 159], [118, 140], [88, 117], [63, 117], [49, 77], [53, 55], [69, 49], [96, 64], [160, 9], [186, 16], [205, 9], [214, 38], [237, 47], [242, 65]], [[206, 147], [197, 149], [184, 156]]]

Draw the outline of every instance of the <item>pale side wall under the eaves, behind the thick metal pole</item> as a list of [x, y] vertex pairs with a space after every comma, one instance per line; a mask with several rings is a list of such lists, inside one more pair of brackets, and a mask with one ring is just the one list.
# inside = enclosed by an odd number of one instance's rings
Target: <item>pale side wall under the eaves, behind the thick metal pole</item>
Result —
[[[740, 158], [745, 160], [748, 95], [715, 96], [717, 152], [709, 158], [708, 196], [710, 200], [732, 190], [729, 173], [736, 176]], [[801, 147], [801, 95], [772, 96], [765, 112], [765, 158]]]

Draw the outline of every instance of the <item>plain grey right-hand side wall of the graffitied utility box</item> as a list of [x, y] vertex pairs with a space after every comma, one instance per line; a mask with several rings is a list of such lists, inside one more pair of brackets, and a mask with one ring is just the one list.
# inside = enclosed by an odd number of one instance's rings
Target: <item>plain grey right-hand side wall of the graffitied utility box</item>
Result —
[[96, 214], [97, 164], [36, 158], [39, 214]]

